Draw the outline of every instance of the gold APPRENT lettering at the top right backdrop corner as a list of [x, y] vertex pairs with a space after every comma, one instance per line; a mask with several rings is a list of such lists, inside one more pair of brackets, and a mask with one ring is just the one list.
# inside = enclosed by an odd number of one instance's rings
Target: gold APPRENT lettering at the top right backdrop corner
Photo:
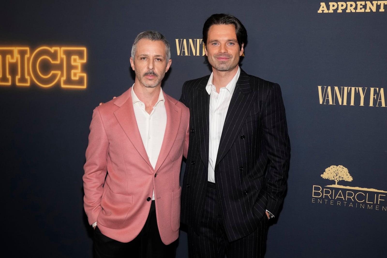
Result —
[[317, 12], [385, 12], [386, 9], [387, 1], [322, 2]]

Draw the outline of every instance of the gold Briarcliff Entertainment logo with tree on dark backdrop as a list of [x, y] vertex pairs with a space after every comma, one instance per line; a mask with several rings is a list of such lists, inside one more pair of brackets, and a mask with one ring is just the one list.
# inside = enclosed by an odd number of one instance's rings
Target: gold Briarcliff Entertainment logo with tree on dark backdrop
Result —
[[321, 177], [333, 180], [335, 184], [326, 186], [313, 185], [312, 203], [387, 211], [387, 191], [337, 184], [342, 180], [348, 182], [353, 180], [346, 167], [332, 165], [325, 169]]

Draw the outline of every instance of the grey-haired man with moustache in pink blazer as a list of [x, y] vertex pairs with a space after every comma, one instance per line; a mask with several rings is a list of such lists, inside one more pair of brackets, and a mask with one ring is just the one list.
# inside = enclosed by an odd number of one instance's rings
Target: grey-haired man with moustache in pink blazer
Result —
[[90, 125], [83, 181], [94, 256], [173, 257], [189, 111], [161, 90], [171, 65], [163, 35], [140, 33], [130, 63], [133, 87], [94, 109]]

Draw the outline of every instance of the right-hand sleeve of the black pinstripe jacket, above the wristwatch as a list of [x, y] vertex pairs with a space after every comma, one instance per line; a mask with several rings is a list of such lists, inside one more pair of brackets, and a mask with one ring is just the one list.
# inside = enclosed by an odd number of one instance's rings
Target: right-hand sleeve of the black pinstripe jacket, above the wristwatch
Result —
[[278, 84], [273, 84], [269, 88], [262, 108], [262, 121], [265, 148], [269, 159], [265, 176], [269, 197], [266, 210], [276, 216], [286, 191], [290, 157], [285, 108]]

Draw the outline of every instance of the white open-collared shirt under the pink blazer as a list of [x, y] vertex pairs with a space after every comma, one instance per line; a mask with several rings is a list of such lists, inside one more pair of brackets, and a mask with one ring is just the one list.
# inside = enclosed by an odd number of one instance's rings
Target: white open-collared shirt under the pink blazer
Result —
[[[140, 101], [133, 89], [134, 84], [132, 87], [132, 101], [137, 126], [149, 161], [154, 169], [160, 154], [161, 144], [163, 144], [165, 126], [167, 124], [163, 90], [160, 88], [159, 99], [154, 104], [151, 114], [148, 114], [145, 110], [145, 104]], [[152, 200], [154, 200], [154, 191]]]

